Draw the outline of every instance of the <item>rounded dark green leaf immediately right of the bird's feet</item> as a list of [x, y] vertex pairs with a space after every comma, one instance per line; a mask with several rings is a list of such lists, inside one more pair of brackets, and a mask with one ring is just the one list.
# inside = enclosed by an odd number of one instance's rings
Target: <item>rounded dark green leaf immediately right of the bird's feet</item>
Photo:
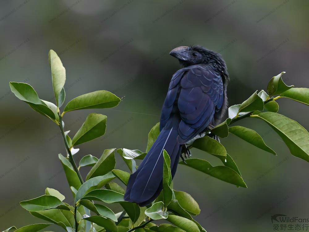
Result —
[[223, 147], [223, 145], [217, 140], [210, 138], [209, 136], [195, 140], [192, 146], [212, 155], [226, 157], [226, 149]]

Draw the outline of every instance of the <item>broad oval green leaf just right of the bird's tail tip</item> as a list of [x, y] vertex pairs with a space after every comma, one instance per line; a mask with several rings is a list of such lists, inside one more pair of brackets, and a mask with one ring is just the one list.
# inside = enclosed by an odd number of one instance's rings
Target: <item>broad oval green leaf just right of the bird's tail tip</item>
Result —
[[183, 191], [174, 190], [175, 198], [178, 200], [178, 203], [182, 208], [188, 211], [193, 216], [200, 214], [201, 209], [198, 206], [197, 202], [193, 199], [193, 197]]

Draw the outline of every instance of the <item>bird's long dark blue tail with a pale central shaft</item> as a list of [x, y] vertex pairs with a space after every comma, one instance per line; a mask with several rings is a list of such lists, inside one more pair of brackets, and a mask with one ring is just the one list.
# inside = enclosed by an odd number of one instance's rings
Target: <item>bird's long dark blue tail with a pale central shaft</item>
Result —
[[138, 170], [131, 174], [125, 192], [125, 200], [146, 206], [155, 200], [162, 190], [163, 149], [171, 158], [174, 177], [178, 165], [181, 144], [177, 142], [179, 118], [171, 118], [160, 132]]

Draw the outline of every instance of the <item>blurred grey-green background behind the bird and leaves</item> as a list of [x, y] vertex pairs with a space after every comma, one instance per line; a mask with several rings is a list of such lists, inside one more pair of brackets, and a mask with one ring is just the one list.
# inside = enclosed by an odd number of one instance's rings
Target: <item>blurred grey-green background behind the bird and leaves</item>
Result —
[[[46, 187], [66, 195], [68, 203], [73, 200], [57, 157], [65, 154], [59, 128], [9, 88], [9, 81], [26, 82], [41, 99], [55, 102], [49, 49], [57, 52], [66, 68], [64, 105], [101, 89], [125, 96], [113, 109], [65, 114], [65, 130], [71, 130], [71, 136], [89, 113], [108, 116], [104, 137], [78, 146], [77, 162], [87, 154], [100, 157], [108, 148], [146, 149], [147, 134], [159, 121], [171, 76], [180, 68], [168, 53], [180, 45], [200, 44], [223, 55], [231, 77], [230, 105], [266, 89], [269, 79], [281, 71], [286, 71], [287, 84], [309, 87], [309, 2], [305, 0], [0, 4], [0, 230], [43, 222], [21, 208], [19, 201], [43, 195]], [[278, 103], [279, 113], [309, 128], [308, 107], [288, 99]], [[237, 163], [246, 189], [180, 165], [174, 188], [197, 200], [201, 214], [195, 219], [209, 232], [238, 232], [273, 231], [270, 218], [277, 213], [308, 218], [308, 163], [290, 155], [264, 122], [248, 118], [239, 125], [259, 132], [277, 156], [234, 135], [221, 140]], [[222, 165], [209, 154], [196, 149], [192, 153]], [[117, 168], [126, 169], [118, 154], [116, 161]], [[83, 176], [88, 170], [82, 170]], [[116, 205], [112, 208], [121, 211]]]

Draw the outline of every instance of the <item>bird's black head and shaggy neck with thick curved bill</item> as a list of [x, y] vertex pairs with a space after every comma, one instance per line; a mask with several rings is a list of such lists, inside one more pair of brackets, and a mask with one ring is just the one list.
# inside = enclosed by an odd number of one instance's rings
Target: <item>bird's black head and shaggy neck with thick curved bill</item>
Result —
[[176, 57], [184, 67], [195, 64], [209, 64], [215, 71], [222, 74], [222, 77], [229, 79], [226, 64], [222, 56], [201, 45], [180, 46], [171, 50], [170, 55]]

